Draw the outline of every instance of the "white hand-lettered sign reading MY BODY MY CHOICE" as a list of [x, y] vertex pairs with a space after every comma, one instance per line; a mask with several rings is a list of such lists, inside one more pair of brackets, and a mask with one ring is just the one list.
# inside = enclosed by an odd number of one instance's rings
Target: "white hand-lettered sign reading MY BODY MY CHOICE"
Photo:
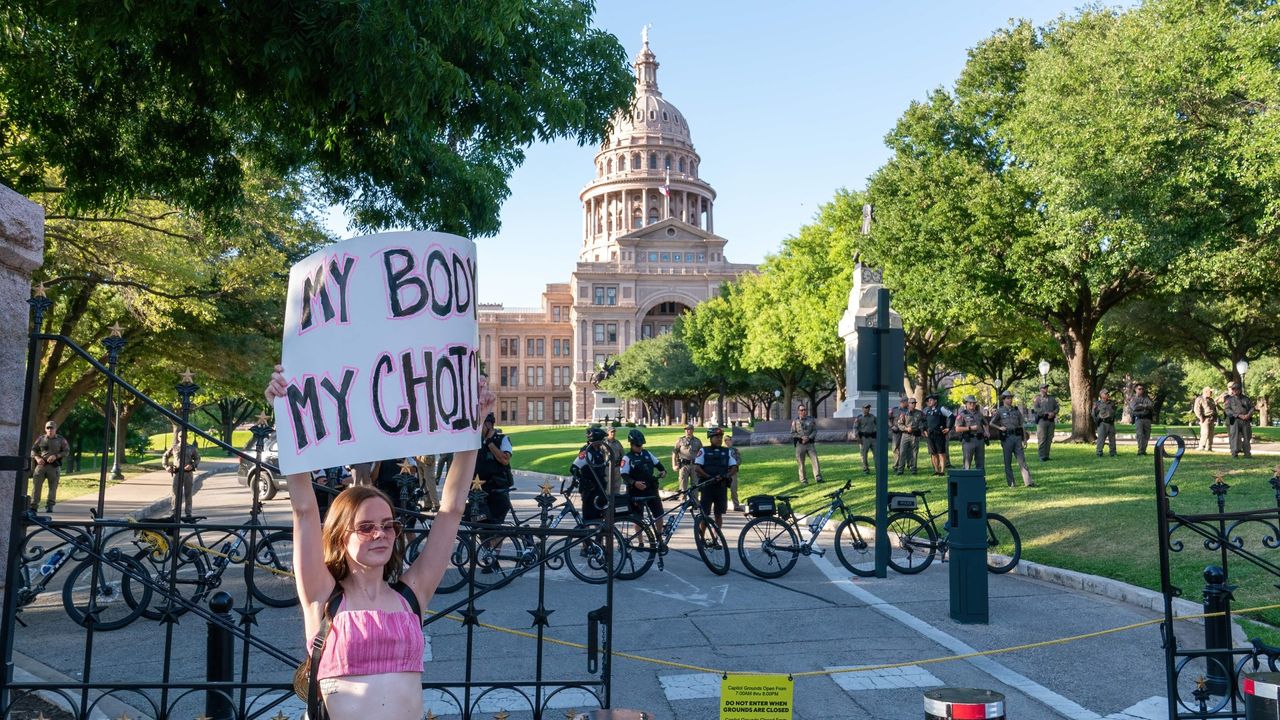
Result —
[[476, 252], [435, 232], [355, 237], [289, 270], [280, 470], [474, 450]]

